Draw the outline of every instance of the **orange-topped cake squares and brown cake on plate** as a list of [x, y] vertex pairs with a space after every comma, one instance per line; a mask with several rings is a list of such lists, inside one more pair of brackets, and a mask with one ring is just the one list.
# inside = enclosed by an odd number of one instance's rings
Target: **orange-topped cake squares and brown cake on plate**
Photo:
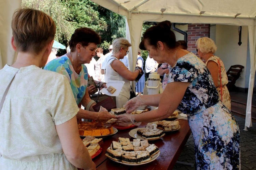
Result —
[[96, 138], [105, 138], [113, 136], [118, 130], [112, 126], [106, 126], [102, 122], [84, 122], [78, 123], [79, 135], [81, 138], [85, 136], [94, 136]]

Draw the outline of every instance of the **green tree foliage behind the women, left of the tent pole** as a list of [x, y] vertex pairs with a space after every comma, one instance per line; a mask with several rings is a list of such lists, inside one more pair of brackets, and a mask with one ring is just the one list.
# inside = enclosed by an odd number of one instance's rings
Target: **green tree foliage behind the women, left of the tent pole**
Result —
[[117, 37], [125, 37], [125, 17], [115, 14], [90, 0], [23, 0], [23, 7], [50, 15], [56, 23], [55, 40], [63, 45], [76, 28], [88, 27], [102, 38], [99, 47], [108, 50]]

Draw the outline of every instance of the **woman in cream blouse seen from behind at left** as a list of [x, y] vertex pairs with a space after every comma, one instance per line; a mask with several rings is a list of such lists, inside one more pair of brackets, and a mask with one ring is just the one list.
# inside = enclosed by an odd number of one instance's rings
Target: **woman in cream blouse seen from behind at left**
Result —
[[96, 169], [79, 136], [68, 79], [41, 69], [55, 31], [53, 19], [41, 11], [14, 12], [17, 60], [0, 70], [1, 169]]

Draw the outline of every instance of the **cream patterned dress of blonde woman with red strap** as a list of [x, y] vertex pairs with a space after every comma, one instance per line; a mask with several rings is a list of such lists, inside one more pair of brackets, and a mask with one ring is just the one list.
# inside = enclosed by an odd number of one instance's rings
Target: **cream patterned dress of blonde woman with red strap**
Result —
[[[228, 76], [227, 76], [224, 64], [223, 64], [222, 60], [217, 56], [210, 57], [207, 60], [207, 62], [205, 63], [206, 66], [207, 66], [207, 63], [209, 61], [214, 61], [215, 63], [217, 63], [218, 68], [221, 69], [221, 79], [220, 79], [219, 74], [218, 74], [218, 87], [216, 87], [216, 88], [217, 88], [217, 91], [218, 91], [218, 94], [219, 94], [219, 99], [221, 99], [223, 104], [225, 106], [227, 106], [227, 108], [229, 110], [231, 110], [231, 99], [230, 99], [229, 91], [228, 91], [228, 88], [227, 88]], [[222, 82], [222, 87], [221, 87], [220, 82]]]

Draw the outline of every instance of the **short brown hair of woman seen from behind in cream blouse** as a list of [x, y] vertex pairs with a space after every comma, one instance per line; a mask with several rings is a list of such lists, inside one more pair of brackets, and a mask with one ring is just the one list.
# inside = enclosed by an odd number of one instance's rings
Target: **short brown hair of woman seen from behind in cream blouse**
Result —
[[12, 17], [12, 34], [17, 51], [39, 54], [54, 40], [56, 26], [53, 19], [42, 11], [17, 9]]

